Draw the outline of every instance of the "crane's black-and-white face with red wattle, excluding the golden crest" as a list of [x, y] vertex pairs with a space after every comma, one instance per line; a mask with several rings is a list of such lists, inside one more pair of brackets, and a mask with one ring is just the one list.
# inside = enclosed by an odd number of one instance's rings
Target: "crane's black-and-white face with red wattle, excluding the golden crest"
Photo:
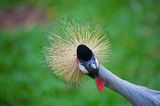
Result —
[[77, 63], [82, 73], [96, 79], [99, 91], [103, 91], [104, 81], [98, 76], [99, 63], [92, 50], [86, 45], [80, 44], [77, 47]]

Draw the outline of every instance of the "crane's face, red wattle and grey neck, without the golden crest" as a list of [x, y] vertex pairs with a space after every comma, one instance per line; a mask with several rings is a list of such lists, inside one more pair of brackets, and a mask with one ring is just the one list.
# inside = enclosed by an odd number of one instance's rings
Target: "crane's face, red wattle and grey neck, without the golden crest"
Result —
[[79, 58], [80, 70], [96, 79], [96, 84], [100, 91], [103, 90], [105, 85], [107, 88], [124, 96], [134, 106], [160, 106], [159, 91], [132, 84], [114, 75], [98, 64], [94, 54], [87, 46], [79, 45], [77, 56]]

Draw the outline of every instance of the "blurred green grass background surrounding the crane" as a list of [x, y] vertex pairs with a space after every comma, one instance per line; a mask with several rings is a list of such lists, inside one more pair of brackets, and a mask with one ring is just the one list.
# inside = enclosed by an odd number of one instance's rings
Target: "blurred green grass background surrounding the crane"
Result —
[[[159, 0], [5, 0], [1, 9], [33, 5], [54, 20], [66, 15], [106, 25], [111, 43], [109, 70], [119, 77], [160, 90]], [[128, 106], [120, 95], [99, 93], [92, 79], [66, 86], [43, 63], [47, 25], [0, 31], [0, 106]]]

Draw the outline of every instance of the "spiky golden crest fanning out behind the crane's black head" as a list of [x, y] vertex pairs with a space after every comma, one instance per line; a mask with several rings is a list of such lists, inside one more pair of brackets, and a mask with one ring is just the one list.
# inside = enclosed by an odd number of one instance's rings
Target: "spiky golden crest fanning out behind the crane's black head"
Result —
[[58, 20], [48, 34], [46, 60], [53, 73], [70, 83], [79, 83], [83, 73], [76, 62], [76, 49], [80, 44], [89, 47], [103, 64], [108, 57], [109, 42], [101, 25], [74, 19]]

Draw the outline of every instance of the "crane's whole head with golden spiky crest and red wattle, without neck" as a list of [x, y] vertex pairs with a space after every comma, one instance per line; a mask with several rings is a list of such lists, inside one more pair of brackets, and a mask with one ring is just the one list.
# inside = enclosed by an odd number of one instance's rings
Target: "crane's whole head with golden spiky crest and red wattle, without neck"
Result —
[[79, 85], [88, 75], [96, 79], [99, 90], [103, 88], [98, 73], [100, 64], [107, 61], [109, 41], [101, 24], [59, 19], [49, 30], [47, 40], [45, 60], [57, 78]]

